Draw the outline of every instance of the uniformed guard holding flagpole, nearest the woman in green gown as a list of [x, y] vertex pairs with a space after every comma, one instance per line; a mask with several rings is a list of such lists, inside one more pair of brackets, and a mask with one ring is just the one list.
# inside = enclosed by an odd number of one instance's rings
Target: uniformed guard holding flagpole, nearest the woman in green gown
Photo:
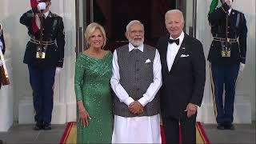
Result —
[[[27, 27], [30, 36], [23, 62], [28, 66], [33, 90], [36, 122], [34, 130], [51, 130], [54, 76], [61, 70], [64, 58], [63, 21], [57, 14], [50, 12], [50, 5], [50, 0], [38, 2], [38, 5], [20, 18], [20, 22]], [[36, 17], [41, 19], [42, 29], [34, 29], [33, 21]]]

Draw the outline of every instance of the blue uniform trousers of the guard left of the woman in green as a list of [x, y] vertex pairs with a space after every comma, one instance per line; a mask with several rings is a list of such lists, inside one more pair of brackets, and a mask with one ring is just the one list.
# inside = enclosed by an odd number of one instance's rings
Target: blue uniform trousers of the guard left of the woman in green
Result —
[[54, 95], [54, 76], [56, 67], [38, 68], [28, 65], [30, 85], [33, 90], [33, 103], [36, 122], [51, 121]]

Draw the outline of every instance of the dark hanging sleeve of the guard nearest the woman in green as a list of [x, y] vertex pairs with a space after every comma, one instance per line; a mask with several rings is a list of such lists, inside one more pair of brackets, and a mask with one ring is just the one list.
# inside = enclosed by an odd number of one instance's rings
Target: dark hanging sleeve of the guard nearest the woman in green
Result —
[[63, 66], [64, 61], [64, 46], [65, 46], [65, 33], [64, 33], [64, 24], [62, 18], [59, 19], [58, 24], [58, 34], [56, 37], [57, 46], [58, 46], [58, 67]]

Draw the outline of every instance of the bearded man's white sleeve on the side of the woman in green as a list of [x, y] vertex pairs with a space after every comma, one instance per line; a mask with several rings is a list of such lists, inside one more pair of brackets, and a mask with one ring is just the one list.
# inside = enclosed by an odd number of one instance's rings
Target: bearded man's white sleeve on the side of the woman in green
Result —
[[118, 66], [118, 55], [117, 51], [114, 50], [112, 60], [112, 77], [110, 78], [110, 84], [120, 102], [124, 102], [127, 106], [129, 106], [131, 102], [134, 102], [134, 99], [131, 98], [129, 94], [127, 94], [126, 90], [122, 87], [119, 81], [120, 74]]

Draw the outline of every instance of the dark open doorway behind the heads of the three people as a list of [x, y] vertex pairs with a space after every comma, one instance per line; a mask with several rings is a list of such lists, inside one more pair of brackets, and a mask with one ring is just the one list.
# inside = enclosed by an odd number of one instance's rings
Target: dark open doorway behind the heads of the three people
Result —
[[[90, 22], [98, 22], [106, 30], [106, 49], [114, 51], [119, 46], [128, 43], [125, 37], [126, 25], [137, 19], [144, 24], [145, 43], [156, 46], [158, 38], [168, 34], [165, 27], [165, 14], [167, 10], [182, 10], [186, 25], [184, 31], [193, 36], [193, 16], [196, 0], [76, 0], [78, 25], [78, 43], [86, 46], [83, 41], [83, 32]], [[192, 8], [191, 8], [192, 7]], [[82, 37], [82, 38], [81, 38]], [[82, 42], [81, 42], [82, 41]], [[78, 49], [79, 51], [83, 49]]]

